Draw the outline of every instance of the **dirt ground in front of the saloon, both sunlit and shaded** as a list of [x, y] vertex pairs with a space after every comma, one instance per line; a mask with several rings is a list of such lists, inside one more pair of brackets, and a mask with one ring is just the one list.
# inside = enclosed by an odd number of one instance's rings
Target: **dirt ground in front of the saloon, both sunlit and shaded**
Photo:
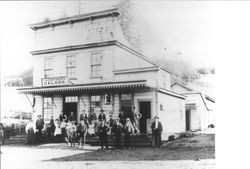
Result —
[[77, 169], [77, 168], [215, 168], [215, 135], [197, 134], [165, 143], [162, 148], [101, 150], [96, 146], [84, 149], [64, 144], [39, 146], [2, 146], [2, 169]]

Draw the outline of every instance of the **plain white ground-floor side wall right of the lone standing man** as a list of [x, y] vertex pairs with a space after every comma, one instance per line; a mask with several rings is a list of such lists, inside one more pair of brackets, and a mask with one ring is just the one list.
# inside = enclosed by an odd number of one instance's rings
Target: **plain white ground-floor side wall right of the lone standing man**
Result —
[[[160, 109], [163, 106], [163, 110]], [[158, 92], [158, 116], [163, 125], [163, 133], [185, 131], [184, 100]]]

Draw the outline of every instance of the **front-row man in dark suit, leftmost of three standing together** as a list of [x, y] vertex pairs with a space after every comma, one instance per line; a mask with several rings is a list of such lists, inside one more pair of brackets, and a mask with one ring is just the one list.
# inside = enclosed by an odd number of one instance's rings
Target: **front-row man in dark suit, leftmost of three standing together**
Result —
[[98, 134], [99, 134], [99, 139], [101, 141], [101, 148], [103, 149], [103, 146], [106, 146], [106, 149], [108, 149], [108, 131], [109, 128], [105, 125], [105, 121], [102, 120], [100, 121], [100, 126], [98, 127]]

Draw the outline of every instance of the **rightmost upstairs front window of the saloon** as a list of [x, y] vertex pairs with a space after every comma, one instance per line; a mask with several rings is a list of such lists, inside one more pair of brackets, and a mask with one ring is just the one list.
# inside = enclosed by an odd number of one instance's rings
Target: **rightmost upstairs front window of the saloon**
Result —
[[102, 53], [91, 54], [91, 77], [101, 77]]

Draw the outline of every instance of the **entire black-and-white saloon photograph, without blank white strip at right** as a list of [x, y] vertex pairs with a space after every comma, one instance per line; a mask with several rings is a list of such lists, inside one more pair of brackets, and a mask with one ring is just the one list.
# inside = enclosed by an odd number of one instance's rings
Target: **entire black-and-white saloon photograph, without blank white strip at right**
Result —
[[1, 1], [0, 168], [215, 169], [222, 8]]

